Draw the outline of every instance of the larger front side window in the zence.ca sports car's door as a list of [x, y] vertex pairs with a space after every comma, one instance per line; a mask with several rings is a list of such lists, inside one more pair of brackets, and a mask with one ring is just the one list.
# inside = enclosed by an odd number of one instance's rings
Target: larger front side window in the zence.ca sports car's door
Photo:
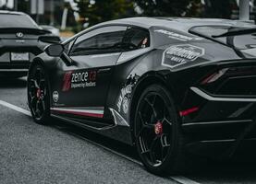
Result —
[[88, 55], [122, 51], [122, 40], [127, 27], [109, 26], [81, 35], [70, 55]]

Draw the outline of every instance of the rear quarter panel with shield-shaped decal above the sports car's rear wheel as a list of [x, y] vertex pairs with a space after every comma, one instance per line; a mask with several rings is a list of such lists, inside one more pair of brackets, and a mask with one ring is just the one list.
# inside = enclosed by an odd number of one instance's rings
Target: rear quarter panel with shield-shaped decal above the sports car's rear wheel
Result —
[[[155, 34], [155, 30], [161, 30]], [[128, 124], [130, 120], [131, 103], [134, 98], [136, 88], [140, 86], [140, 82], [145, 78], [158, 78], [162, 85], [168, 88], [175, 99], [177, 109], [183, 109], [183, 99], [186, 97], [189, 86], [196, 84], [201, 77], [208, 74], [208, 70], [213, 67], [204, 67], [209, 63], [218, 63], [219, 61], [239, 60], [241, 59], [237, 52], [225, 45], [213, 42], [211, 40], [201, 39], [190, 34], [182, 35], [180, 32], [173, 31], [173, 35], [183, 38], [173, 38], [166, 35], [161, 28], [151, 29], [152, 31], [152, 48], [137, 57], [130, 56], [130, 60], [124, 63], [117, 63], [112, 78], [106, 107], [115, 109]], [[164, 32], [164, 33], [163, 33]], [[187, 38], [187, 40], [186, 40]], [[190, 39], [189, 39], [190, 38]], [[161, 45], [159, 40], [166, 40], [168, 44]], [[157, 40], [157, 41], [156, 41]], [[199, 48], [201, 54], [197, 57], [188, 59], [188, 55], [180, 48]], [[173, 51], [177, 52], [173, 52]], [[181, 55], [178, 55], [178, 54]], [[176, 57], [185, 59], [179, 63], [168, 63], [166, 60]], [[152, 80], [152, 79], [151, 79]], [[155, 81], [152, 80], [152, 84]], [[150, 83], [148, 84], [150, 85]], [[134, 102], [137, 103], [137, 102]], [[111, 113], [109, 113], [111, 118]]]

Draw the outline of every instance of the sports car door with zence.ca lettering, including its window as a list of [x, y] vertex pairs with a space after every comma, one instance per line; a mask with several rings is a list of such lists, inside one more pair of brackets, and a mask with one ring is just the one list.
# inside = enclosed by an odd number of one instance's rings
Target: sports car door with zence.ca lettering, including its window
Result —
[[104, 118], [104, 106], [111, 75], [122, 52], [127, 27], [107, 26], [94, 29], [75, 40], [63, 64], [61, 108], [58, 112], [76, 118]]

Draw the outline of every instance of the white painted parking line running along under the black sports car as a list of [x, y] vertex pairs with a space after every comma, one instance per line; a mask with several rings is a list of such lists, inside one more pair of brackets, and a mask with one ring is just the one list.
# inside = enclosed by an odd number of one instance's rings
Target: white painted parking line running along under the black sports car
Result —
[[[23, 114], [25, 114], [25, 115], [27, 115], [27, 116], [31, 116], [31, 113], [30, 113], [29, 110], [19, 108], [18, 106], [15, 106], [15, 105], [13, 105], [13, 104], [10, 104], [10, 103], [8, 103], [8, 102], [6, 102], [6, 101], [0, 100], [0, 105], [5, 106], [6, 108], [9, 108], [9, 109], [14, 109], [14, 110], [16, 110], [16, 111], [18, 111], [18, 112], [20, 112], [20, 113], [23, 113]], [[73, 133], [70, 133], [70, 134], [73, 134]], [[79, 136], [79, 135], [77, 135], [77, 134], [73, 134], [73, 135], [75, 135], [75, 136], [77, 136], [77, 137]], [[95, 142], [93, 142], [93, 141], [91, 141], [91, 140], [89, 140], [89, 139], [86, 139], [86, 138], [84, 138], [84, 137], [82, 137], [82, 136], [79, 136], [79, 138], [84, 139], [84, 140], [86, 140], [87, 142], [89, 142], [89, 143], [91, 143], [91, 144], [94, 144], [94, 145], [97, 145], [97, 146], [99, 146], [99, 147], [102, 147], [102, 148], [104, 148], [104, 150], [109, 151], [109, 152], [111, 152], [111, 153], [113, 153], [113, 154], [115, 154], [115, 155], [119, 155], [119, 156], [121, 156], [121, 157], [123, 157], [123, 158], [125, 158], [125, 159], [127, 159], [127, 160], [129, 160], [129, 161], [131, 161], [131, 162], [133, 162], [133, 163], [135, 163], [135, 164], [138, 164], [138, 165], [140, 165], [140, 166], [143, 166], [143, 164], [142, 164], [140, 161], [135, 160], [135, 159], [133, 159], [133, 158], [131, 158], [131, 157], [128, 157], [127, 155], [120, 154], [120, 153], [118, 153], [118, 152], [116, 152], [116, 151], [114, 151], [114, 150], [112, 150], [112, 149], [110, 149], [110, 148], [108, 148], [108, 147], [105, 147], [105, 146], [102, 145], [102, 144], [97, 144], [97, 143], [95, 143]], [[196, 181], [191, 180], [191, 179], [189, 179], [189, 178], [185, 178], [185, 177], [183, 177], [183, 176], [176, 176], [176, 177], [170, 177], [170, 178], [173, 179], [173, 180], [175, 180], [175, 181], [177, 181], [178, 183], [181, 183], [181, 184], [200, 184], [199, 182], [196, 182]]]

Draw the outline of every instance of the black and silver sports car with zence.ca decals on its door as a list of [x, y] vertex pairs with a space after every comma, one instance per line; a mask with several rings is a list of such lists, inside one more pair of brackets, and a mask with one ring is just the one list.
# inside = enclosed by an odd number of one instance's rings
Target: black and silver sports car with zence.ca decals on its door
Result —
[[224, 19], [96, 25], [34, 58], [32, 117], [135, 144], [159, 175], [186, 169], [188, 153], [230, 157], [256, 138], [255, 39], [256, 26]]

